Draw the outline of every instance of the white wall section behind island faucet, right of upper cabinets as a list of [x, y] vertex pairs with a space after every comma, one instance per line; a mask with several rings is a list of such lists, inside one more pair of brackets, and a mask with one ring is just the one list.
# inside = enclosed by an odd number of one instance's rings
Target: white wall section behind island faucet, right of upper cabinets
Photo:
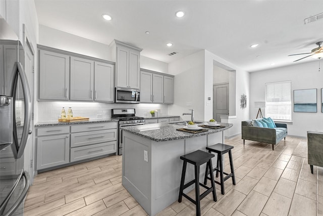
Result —
[[[203, 50], [169, 63], [169, 73], [175, 75], [174, 104], [169, 105], [169, 113], [182, 115], [194, 109], [195, 119], [204, 120], [204, 65]], [[189, 115], [182, 118], [190, 120]]]

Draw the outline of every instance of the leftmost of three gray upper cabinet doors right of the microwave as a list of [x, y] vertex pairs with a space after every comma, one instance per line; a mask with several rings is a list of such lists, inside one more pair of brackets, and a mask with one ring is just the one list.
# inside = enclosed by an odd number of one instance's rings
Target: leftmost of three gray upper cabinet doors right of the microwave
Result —
[[152, 73], [140, 71], [140, 102], [152, 102]]

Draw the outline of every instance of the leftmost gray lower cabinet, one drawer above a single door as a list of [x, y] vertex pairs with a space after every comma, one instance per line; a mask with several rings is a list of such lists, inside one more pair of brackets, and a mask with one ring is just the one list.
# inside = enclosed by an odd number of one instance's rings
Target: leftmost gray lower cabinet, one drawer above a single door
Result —
[[69, 128], [63, 126], [37, 129], [37, 170], [70, 162]]

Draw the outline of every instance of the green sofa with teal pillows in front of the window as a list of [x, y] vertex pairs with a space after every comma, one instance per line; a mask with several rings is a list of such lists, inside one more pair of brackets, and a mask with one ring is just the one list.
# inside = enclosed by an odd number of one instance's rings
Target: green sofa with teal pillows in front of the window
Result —
[[287, 136], [287, 124], [276, 123], [275, 128], [258, 127], [254, 123], [254, 120], [246, 120], [241, 122], [241, 134], [243, 139], [243, 145], [245, 140], [252, 140], [261, 143], [269, 143], [274, 145], [279, 143], [283, 138], [285, 140]]

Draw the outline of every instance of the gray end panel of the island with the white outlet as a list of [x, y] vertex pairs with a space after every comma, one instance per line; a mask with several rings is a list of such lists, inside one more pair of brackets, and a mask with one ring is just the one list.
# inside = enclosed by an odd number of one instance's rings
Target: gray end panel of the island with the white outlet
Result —
[[[122, 185], [151, 215], [151, 141], [123, 132]], [[144, 150], [148, 162], [144, 161]]]

